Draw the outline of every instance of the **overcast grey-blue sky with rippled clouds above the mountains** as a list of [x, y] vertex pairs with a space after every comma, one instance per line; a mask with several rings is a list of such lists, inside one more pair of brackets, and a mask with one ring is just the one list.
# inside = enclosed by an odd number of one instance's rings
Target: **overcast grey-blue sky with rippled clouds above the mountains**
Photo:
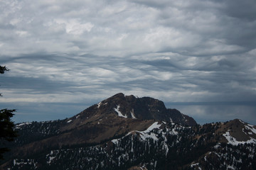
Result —
[[1, 108], [73, 116], [122, 92], [256, 124], [255, 0], [1, 0]]

